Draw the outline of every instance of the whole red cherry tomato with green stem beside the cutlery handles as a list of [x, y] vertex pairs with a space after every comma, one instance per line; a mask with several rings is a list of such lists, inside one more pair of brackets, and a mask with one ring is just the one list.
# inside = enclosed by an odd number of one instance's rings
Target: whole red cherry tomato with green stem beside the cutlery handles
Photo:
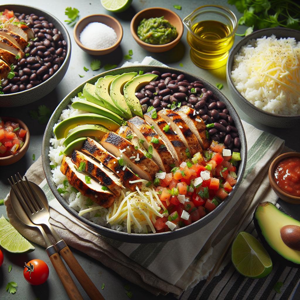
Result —
[[49, 268], [43, 260], [32, 259], [25, 264], [23, 275], [30, 284], [40, 285], [47, 280]]

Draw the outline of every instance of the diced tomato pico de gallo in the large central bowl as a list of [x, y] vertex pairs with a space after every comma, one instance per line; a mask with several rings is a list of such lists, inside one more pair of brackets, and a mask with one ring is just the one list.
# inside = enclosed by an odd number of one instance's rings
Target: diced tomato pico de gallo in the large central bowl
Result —
[[157, 232], [187, 226], [213, 211], [237, 182], [239, 152], [231, 153], [215, 141], [208, 150], [174, 167], [171, 173], [157, 173], [156, 192], [167, 209], [154, 223]]

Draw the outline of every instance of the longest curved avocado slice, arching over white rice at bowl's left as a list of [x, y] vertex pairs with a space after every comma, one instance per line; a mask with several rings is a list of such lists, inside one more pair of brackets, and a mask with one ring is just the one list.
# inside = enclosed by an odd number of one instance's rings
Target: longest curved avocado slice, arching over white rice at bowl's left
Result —
[[120, 127], [118, 123], [105, 116], [100, 116], [95, 113], [83, 113], [61, 121], [53, 129], [53, 132], [55, 137], [59, 140], [66, 137], [70, 129], [82, 124], [102, 125], [111, 131], [115, 131]]

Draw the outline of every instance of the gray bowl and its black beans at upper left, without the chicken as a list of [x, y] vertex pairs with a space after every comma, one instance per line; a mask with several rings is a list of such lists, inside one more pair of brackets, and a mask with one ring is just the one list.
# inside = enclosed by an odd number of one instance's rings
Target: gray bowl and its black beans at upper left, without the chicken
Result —
[[0, 107], [16, 107], [41, 99], [58, 85], [70, 62], [71, 41], [64, 25], [42, 9], [0, 5], [0, 11], [4, 9], [13, 10], [35, 35], [24, 49], [25, 57], [12, 66], [15, 76], [1, 80]]

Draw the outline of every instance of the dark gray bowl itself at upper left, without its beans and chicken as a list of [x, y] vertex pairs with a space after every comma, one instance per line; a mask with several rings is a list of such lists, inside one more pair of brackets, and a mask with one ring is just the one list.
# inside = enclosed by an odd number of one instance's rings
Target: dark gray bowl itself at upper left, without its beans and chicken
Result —
[[61, 82], [61, 79], [63, 79], [64, 74], [67, 72], [67, 68], [70, 62], [71, 40], [67, 29], [65, 29], [64, 25], [58, 19], [56, 19], [55, 16], [53, 16], [50, 13], [47, 13], [45, 10], [28, 5], [0, 5], [0, 11], [3, 11], [5, 8], [13, 10], [16, 13], [35, 13], [37, 16], [44, 16], [47, 19], [47, 21], [53, 23], [54, 27], [62, 33], [64, 40], [67, 42], [66, 58], [64, 59], [64, 62], [57, 70], [57, 72], [54, 73], [49, 79], [47, 79], [39, 85], [36, 85], [33, 88], [30, 88], [29, 90], [20, 91], [12, 94], [0, 95], [0, 107], [16, 107], [32, 103], [43, 98], [44, 96], [49, 94], [56, 87], [56, 85], [58, 85], [59, 82]]

